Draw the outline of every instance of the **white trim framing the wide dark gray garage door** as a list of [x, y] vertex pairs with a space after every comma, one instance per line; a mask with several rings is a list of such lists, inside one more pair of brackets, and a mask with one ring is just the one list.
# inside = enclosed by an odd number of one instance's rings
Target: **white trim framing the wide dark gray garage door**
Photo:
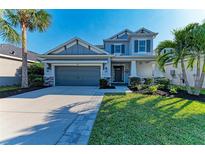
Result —
[[53, 70], [54, 77], [54, 86], [56, 85], [56, 77], [55, 77], [55, 67], [56, 66], [99, 66], [100, 67], [100, 77], [103, 77], [103, 64], [51, 64]]

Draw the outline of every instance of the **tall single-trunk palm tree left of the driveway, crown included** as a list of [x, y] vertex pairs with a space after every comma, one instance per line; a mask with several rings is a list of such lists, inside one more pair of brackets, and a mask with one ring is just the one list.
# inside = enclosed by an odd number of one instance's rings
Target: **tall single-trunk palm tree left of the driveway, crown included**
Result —
[[[27, 67], [27, 31], [45, 31], [51, 23], [51, 16], [45, 10], [22, 9], [5, 10], [0, 20], [2, 37], [10, 42], [19, 42], [21, 36], [22, 44], [22, 88], [28, 87]], [[14, 28], [21, 28], [21, 35]]]

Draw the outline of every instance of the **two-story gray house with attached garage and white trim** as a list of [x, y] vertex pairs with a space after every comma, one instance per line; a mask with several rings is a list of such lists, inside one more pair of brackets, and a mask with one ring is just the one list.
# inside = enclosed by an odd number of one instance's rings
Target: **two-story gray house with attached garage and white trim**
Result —
[[157, 77], [153, 39], [157, 33], [141, 28], [125, 29], [92, 45], [73, 38], [41, 55], [45, 82], [52, 86], [98, 85], [99, 79], [128, 84], [130, 77]]

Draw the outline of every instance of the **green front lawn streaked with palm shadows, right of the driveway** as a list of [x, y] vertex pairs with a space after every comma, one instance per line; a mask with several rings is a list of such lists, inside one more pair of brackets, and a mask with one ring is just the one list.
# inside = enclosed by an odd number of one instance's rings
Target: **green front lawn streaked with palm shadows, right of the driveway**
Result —
[[205, 102], [106, 95], [89, 144], [205, 144]]

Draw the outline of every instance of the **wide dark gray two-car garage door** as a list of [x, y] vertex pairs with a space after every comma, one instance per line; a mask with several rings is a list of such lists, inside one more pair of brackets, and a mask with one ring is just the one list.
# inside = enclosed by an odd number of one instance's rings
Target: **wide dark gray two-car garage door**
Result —
[[56, 66], [56, 86], [98, 86], [99, 66]]

